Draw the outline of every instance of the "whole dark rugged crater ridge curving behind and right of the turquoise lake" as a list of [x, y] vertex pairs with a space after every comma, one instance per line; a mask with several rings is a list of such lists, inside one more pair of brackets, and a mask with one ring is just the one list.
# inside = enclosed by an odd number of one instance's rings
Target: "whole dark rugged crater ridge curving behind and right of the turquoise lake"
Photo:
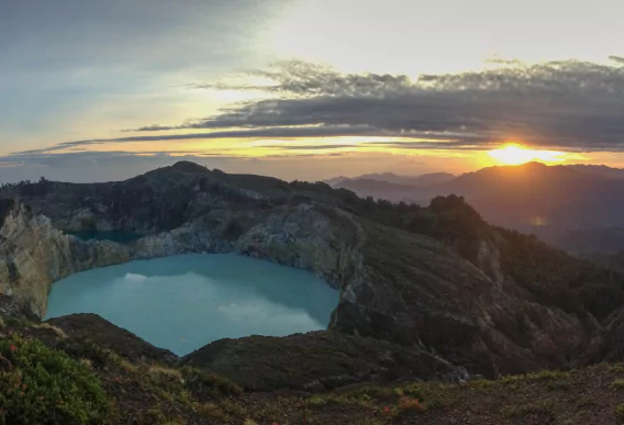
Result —
[[[323, 183], [226, 175], [189, 163], [125, 182], [44, 181], [3, 195], [49, 216], [13, 203], [0, 228], [3, 292], [35, 314], [51, 282], [73, 271], [235, 251], [312, 270], [338, 288], [333, 332], [497, 377], [584, 361], [587, 344], [605, 332], [624, 301], [622, 275], [489, 226], [456, 197], [426, 209], [392, 205]], [[81, 242], [54, 227], [145, 236], [125, 245]], [[209, 350], [219, 358], [229, 349]]]

